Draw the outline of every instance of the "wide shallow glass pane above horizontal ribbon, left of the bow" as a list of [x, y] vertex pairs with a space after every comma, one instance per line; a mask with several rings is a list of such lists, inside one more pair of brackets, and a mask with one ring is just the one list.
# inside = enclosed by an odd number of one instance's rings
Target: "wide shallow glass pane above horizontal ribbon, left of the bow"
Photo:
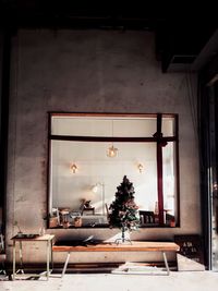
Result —
[[152, 137], [156, 131], [156, 118], [69, 116], [51, 118], [53, 135]]

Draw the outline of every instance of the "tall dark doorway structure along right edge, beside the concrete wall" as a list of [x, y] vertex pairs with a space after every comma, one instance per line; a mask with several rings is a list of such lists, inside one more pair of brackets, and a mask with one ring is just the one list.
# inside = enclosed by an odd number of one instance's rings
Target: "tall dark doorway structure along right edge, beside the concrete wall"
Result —
[[[213, 199], [217, 197], [218, 182], [218, 54], [198, 74], [198, 135], [199, 135], [199, 174], [202, 205], [202, 235], [204, 259], [208, 269], [213, 269]], [[217, 198], [215, 198], [217, 199]], [[214, 199], [214, 201], [215, 201]], [[213, 209], [214, 208], [214, 209]], [[217, 209], [218, 210], [218, 209]]]

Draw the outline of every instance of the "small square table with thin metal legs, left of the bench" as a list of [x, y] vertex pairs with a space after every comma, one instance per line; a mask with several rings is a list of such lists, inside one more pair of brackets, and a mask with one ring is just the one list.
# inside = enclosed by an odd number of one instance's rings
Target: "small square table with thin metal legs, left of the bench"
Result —
[[[46, 276], [47, 280], [49, 279], [49, 274], [52, 271], [53, 268], [53, 254], [52, 254], [52, 243], [53, 243], [55, 235], [53, 234], [45, 234], [38, 235], [36, 238], [25, 238], [25, 237], [13, 237], [11, 240], [13, 241], [13, 274], [12, 280], [16, 279], [16, 275], [27, 276], [24, 274], [23, 269], [23, 252], [22, 252], [22, 242], [46, 242], [47, 243], [47, 252], [46, 252], [46, 271], [43, 274], [29, 274], [31, 277], [41, 277]], [[20, 269], [16, 270], [16, 242], [19, 242], [19, 256], [20, 256]], [[50, 269], [51, 264], [51, 269]]]

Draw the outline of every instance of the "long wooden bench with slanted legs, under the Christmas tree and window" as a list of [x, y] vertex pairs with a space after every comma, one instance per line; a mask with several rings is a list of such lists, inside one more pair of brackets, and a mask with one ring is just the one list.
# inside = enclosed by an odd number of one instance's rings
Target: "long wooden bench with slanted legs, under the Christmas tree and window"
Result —
[[97, 243], [87, 245], [70, 245], [59, 243], [52, 246], [53, 252], [66, 252], [66, 258], [62, 270], [62, 277], [65, 274], [70, 255], [72, 252], [161, 252], [164, 256], [167, 275], [170, 274], [166, 252], [178, 252], [180, 246], [173, 242], [146, 242], [132, 241], [130, 244]]

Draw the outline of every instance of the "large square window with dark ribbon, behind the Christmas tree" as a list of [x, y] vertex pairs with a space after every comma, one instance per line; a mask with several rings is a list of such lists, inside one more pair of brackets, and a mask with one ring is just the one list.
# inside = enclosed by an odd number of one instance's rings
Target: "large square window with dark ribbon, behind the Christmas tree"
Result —
[[108, 227], [124, 175], [141, 227], [179, 226], [175, 114], [50, 113], [49, 226]]

